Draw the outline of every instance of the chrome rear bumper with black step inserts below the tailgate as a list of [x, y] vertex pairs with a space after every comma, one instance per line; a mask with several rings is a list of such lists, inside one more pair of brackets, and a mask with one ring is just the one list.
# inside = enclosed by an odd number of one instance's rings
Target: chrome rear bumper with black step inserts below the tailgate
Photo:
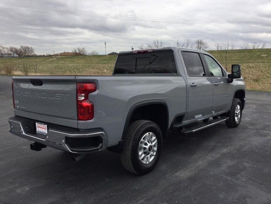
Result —
[[[10, 123], [10, 132], [14, 135], [71, 153], [82, 154], [94, 151], [103, 151], [107, 146], [107, 136], [103, 131], [69, 133], [67, 131], [59, 131], [57, 128], [48, 128], [47, 135], [43, 136], [34, 133], [33, 127], [31, 127], [28, 119], [11, 117], [8, 119], [8, 122]], [[75, 141], [75, 143], [78, 144], [76, 141], [81, 140], [79, 143], [82, 143], [84, 140], [91, 141], [89, 139], [94, 138], [97, 138], [95, 145], [86, 144], [84, 147], [87, 148], [82, 148], [82, 146], [77, 148], [74, 144], [71, 144], [73, 143], [72, 141]], [[70, 143], [67, 143], [67, 141], [70, 141]]]

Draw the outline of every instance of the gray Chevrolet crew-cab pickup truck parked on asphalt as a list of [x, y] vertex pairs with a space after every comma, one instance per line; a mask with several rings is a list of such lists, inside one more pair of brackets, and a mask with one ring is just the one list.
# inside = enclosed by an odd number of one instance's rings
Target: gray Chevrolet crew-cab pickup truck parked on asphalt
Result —
[[179, 47], [120, 52], [113, 76], [14, 76], [12, 89], [10, 132], [31, 150], [77, 161], [108, 149], [139, 175], [158, 163], [167, 130], [237, 127], [245, 106], [240, 65], [227, 73], [209, 53]]

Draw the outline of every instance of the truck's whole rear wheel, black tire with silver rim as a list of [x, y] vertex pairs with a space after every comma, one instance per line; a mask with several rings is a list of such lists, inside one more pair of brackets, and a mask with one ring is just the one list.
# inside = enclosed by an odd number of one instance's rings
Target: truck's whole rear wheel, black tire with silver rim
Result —
[[134, 121], [127, 131], [121, 153], [122, 165], [135, 174], [149, 173], [157, 165], [162, 147], [163, 137], [156, 123], [146, 120]]

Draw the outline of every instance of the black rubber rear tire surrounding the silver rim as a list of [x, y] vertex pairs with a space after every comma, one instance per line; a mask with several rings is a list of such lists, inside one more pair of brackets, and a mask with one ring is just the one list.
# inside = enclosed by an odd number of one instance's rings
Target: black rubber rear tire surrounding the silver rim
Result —
[[[142, 163], [139, 159], [139, 143], [142, 137], [148, 133], [154, 133], [157, 139], [157, 151], [153, 159], [147, 163]], [[158, 163], [163, 148], [162, 132], [158, 125], [152, 121], [138, 120], [129, 125], [126, 134], [124, 149], [121, 153], [121, 162], [128, 171], [144, 175], [151, 172]]]

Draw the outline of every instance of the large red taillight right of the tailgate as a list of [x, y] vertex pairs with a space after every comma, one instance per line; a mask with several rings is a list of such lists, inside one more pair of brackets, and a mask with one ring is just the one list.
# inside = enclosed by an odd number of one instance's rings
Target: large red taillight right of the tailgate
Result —
[[88, 99], [88, 94], [96, 91], [95, 83], [77, 83], [77, 118], [79, 121], [92, 120], [94, 117], [94, 105]]

